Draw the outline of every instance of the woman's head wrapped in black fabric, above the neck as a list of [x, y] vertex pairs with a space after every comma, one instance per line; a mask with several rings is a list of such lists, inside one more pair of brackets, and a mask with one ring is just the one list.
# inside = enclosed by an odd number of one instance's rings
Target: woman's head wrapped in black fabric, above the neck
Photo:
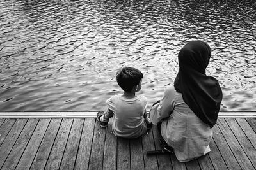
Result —
[[179, 52], [180, 69], [195, 69], [205, 74], [211, 57], [211, 48], [204, 41], [190, 41]]

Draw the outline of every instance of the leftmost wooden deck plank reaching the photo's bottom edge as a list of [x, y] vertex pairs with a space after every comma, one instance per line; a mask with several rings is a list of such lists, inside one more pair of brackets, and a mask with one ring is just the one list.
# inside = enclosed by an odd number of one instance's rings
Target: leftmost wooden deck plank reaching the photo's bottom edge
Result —
[[38, 118], [29, 118], [24, 129], [20, 133], [19, 138], [13, 146], [12, 151], [5, 160], [2, 169], [15, 169], [20, 160], [20, 157], [22, 156], [22, 153], [24, 152], [29, 142], [29, 139], [34, 132], [36, 125], [38, 124], [38, 121]]

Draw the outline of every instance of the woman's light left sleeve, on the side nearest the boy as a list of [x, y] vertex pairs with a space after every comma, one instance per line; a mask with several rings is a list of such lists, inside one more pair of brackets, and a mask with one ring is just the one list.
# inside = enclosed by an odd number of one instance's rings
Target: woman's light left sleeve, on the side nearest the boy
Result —
[[173, 90], [175, 89], [172, 89], [172, 87], [167, 87], [164, 90], [161, 101], [155, 103], [150, 108], [149, 115], [152, 124], [156, 125], [158, 122], [161, 122], [163, 118], [170, 117], [175, 106], [175, 91]]

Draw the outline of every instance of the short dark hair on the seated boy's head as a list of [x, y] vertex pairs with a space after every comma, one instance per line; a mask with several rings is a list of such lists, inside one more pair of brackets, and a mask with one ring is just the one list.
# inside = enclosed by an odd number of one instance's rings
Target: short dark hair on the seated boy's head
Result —
[[125, 92], [131, 92], [132, 88], [140, 83], [141, 78], [143, 73], [132, 67], [123, 67], [116, 73], [116, 81]]

